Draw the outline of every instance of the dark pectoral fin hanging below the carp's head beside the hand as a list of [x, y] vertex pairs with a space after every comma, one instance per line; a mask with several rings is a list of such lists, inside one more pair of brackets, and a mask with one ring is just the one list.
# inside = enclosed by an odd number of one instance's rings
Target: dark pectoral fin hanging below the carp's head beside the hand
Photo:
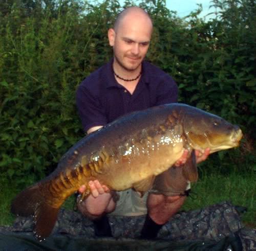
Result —
[[187, 180], [191, 182], [196, 182], [198, 180], [195, 150], [191, 152], [190, 156], [187, 158], [186, 163], [181, 168], [182, 168], [182, 173]]

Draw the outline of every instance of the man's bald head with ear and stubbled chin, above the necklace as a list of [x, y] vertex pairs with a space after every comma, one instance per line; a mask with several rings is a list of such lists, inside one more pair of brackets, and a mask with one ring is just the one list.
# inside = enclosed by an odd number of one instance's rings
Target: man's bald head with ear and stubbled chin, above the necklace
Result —
[[118, 15], [114, 28], [108, 31], [117, 73], [131, 79], [138, 76], [150, 46], [152, 28], [150, 16], [139, 7], [127, 8]]

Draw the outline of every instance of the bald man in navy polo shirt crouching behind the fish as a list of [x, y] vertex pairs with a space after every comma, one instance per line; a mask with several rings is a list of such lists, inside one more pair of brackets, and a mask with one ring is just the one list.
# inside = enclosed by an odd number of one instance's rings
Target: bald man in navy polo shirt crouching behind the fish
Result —
[[[108, 38], [114, 51], [114, 59], [103, 65], [83, 80], [77, 90], [77, 107], [84, 130], [91, 133], [125, 113], [148, 107], [177, 102], [178, 88], [175, 81], [156, 66], [143, 61], [150, 45], [153, 24], [150, 16], [141, 8], [130, 7], [122, 11], [115, 21]], [[125, 133], [125, 132], [124, 132]], [[209, 154], [196, 152], [197, 162]], [[187, 151], [177, 161], [179, 167], [185, 163]], [[170, 168], [176, 180], [182, 175], [180, 168]], [[172, 173], [170, 173], [172, 174]], [[173, 175], [169, 175], [173, 176]], [[169, 176], [166, 176], [169, 179]], [[172, 180], [169, 183], [172, 184]], [[94, 221], [95, 234], [111, 236], [106, 214], [143, 215], [146, 220], [141, 238], [155, 238], [161, 226], [172, 217], [184, 203], [182, 188], [174, 188], [170, 195], [149, 193], [141, 197], [133, 190], [110, 191], [98, 180], [90, 181], [91, 195], [78, 203], [78, 209]], [[174, 186], [175, 187], [175, 186]], [[85, 186], [79, 189], [85, 191]]]

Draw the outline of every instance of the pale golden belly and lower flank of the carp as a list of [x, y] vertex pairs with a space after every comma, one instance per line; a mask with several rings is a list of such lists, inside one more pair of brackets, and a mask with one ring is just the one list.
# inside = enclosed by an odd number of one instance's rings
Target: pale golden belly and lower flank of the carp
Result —
[[156, 176], [171, 167], [183, 153], [183, 143], [135, 144], [126, 154], [111, 158], [108, 171], [97, 175], [102, 184], [113, 190], [132, 188], [134, 183]]

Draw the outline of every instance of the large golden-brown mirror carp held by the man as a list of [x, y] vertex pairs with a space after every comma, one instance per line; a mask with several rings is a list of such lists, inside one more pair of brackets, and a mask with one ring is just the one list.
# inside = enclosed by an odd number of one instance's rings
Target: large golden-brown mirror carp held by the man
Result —
[[[238, 126], [195, 107], [166, 104], [136, 111], [81, 139], [63, 155], [57, 169], [16, 196], [11, 211], [34, 215], [34, 233], [50, 235], [62, 203], [89, 180], [112, 190], [151, 189], [154, 177], [171, 167], [184, 149], [210, 153], [239, 145]], [[186, 169], [184, 169], [186, 170]], [[186, 171], [188, 180], [193, 173]]]

